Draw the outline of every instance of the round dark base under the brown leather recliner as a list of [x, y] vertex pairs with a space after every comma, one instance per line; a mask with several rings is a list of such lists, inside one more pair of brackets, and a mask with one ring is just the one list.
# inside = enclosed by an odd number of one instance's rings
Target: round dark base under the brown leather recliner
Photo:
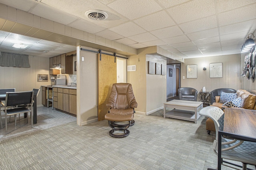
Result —
[[[128, 124], [124, 124], [124, 125], [118, 125], [116, 123], [112, 123], [114, 121], [108, 121], [108, 125], [112, 128], [111, 131], [109, 131], [109, 135], [111, 137], [115, 137], [115, 138], [123, 138], [123, 137], [127, 137], [128, 135], [130, 135], [130, 131], [128, 130], [128, 127], [130, 127], [131, 125], [131, 121], [129, 121]], [[118, 127], [118, 128], [116, 128]], [[115, 135], [114, 131], [123, 131], [124, 133], [122, 133], [122, 135]]]

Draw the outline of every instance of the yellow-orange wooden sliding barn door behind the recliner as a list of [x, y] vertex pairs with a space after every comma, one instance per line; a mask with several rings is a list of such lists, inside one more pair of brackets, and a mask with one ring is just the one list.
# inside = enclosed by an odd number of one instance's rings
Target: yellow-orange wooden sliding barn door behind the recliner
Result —
[[115, 57], [98, 54], [98, 121], [105, 119], [108, 108], [106, 103], [110, 95], [112, 84], [116, 83]]

